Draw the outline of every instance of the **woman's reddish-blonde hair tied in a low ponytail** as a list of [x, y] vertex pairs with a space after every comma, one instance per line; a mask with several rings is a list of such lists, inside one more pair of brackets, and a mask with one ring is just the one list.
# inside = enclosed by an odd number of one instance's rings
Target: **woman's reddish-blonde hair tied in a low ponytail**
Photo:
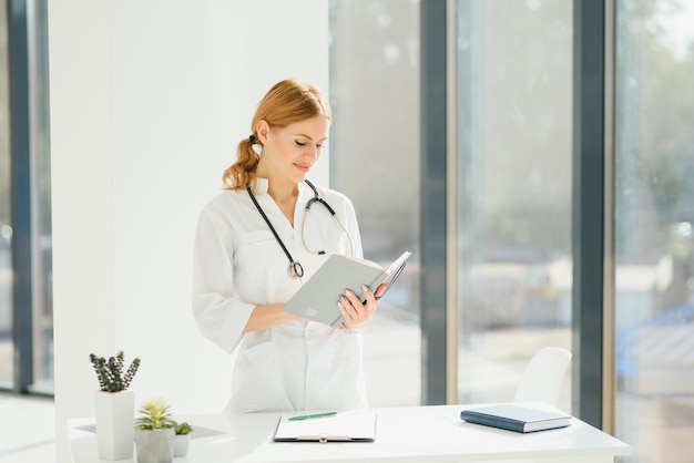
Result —
[[[258, 103], [251, 133], [257, 141], [255, 127], [266, 121], [271, 127], [286, 127], [317, 115], [331, 120], [330, 106], [320, 90], [300, 79], [277, 82]], [[237, 160], [222, 175], [224, 189], [242, 189], [251, 186], [258, 166], [258, 155], [253, 151], [251, 138], [244, 138], [236, 147]]]

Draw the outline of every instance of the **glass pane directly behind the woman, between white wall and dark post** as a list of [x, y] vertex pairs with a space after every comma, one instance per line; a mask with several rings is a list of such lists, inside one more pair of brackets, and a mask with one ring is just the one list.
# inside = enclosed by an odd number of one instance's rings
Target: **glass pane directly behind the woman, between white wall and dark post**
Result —
[[420, 403], [419, 2], [330, 1], [330, 183], [354, 202], [366, 258], [411, 250], [365, 333], [372, 407]]

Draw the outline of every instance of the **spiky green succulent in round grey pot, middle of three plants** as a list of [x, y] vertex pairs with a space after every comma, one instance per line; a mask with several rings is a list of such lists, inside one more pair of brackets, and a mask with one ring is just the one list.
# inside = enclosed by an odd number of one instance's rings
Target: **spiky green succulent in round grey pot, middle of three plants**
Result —
[[176, 422], [171, 404], [162, 398], [143, 402], [137, 411], [135, 449], [137, 463], [171, 463], [174, 456]]

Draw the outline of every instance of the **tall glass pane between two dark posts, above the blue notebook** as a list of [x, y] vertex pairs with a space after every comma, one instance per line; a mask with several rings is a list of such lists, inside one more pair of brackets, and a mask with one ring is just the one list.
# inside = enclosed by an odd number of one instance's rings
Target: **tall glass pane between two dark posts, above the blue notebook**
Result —
[[510, 401], [535, 351], [571, 350], [573, 2], [458, 7], [458, 397]]

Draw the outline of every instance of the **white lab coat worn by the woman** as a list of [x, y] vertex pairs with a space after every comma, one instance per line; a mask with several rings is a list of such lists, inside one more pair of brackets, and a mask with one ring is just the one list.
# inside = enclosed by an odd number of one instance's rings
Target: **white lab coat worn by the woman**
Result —
[[[245, 189], [225, 191], [202, 209], [195, 236], [193, 315], [201, 332], [227, 352], [238, 349], [228, 411], [347, 410], [367, 407], [361, 332], [292, 321], [243, 333], [255, 306], [286, 302], [330, 254], [363, 257], [351, 202], [318, 188], [349, 233], [318, 203], [305, 183], [294, 227], [258, 179], [256, 199], [296, 261], [302, 280], [288, 275], [289, 260]], [[304, 228], [304, 230], [303, 230]], [[304, 232], [306, 246], [302, 237]], [[317, 256], [312, 251], [325, 250]], [[337, 300], [335, 301], [337, 303]]]

